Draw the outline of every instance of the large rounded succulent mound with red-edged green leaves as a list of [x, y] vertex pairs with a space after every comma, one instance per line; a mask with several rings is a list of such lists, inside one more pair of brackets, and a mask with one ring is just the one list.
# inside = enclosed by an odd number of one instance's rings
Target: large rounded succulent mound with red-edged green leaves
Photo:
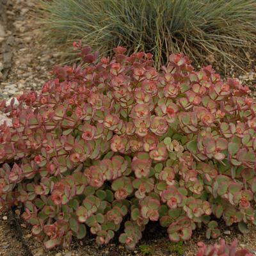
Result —
[[134, 248], [148, 221], [172, 241], [196, 227], [220, 234], [217, 219], [256, 224], [256, 104], [234, 79], [196, 72], [172, 54], [157, 72], [152, 54], [102, 58], [82, 48], [84, 68], [56, 67], [42, 92], [10, 106], [0, 127], [1, 210], [22, 217], [47, 248], [86, 230], [99, 244], [119, 229]]

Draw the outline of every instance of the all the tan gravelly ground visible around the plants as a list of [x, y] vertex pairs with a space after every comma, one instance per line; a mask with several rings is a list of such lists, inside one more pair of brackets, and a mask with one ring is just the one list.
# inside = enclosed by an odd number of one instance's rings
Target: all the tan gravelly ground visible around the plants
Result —
[[[60, 0], [61, 1], [61, 0]], [[39, 90], [50, 76], [51, 68], [60, 63], [58, 49], [49, 47], [44, 42], [42, 32], [35, 23], [36, 0], [0, 0], [0, 99], [10, 99], [26, 90]], [[43, 38], [43, 40], [42, 40]], [[237, 67], [225, 67], [227, 76], [237, 77], [243, 84], [252, 89], [252, 97], [256, 98], [256, 69], [255, 51], [246, 52], [244, 70]], [[218, 61], [209, 56], [209, 64], [214, 65], [218, 72], [224, 72]], [[5, 118], [0, 113], [1, 118]], [[124, 246], [113, 241], [108, 246], [98, 246], [93, 237], [86, 237], [83, 241], [73, 241], [70, 250], [57, 248], [45, 251], [42, 243], [35, 241], [29, 234], [29, 227], [19, 219], [13, 218], [10, 212], [0, 216], [0, 256], [132, 256], [143, 255], [140, 246], [134, 252], [125, 250]], [[195, 255], [196, 243], [205, 240], [205, 230], [198, 230], [193, 239], [184, 243], [184, 255]], [[222, 228], [222, 238], [230, 243], [235, 237], [239, 239], [241, 248], [248, 247], [256, 255], [256, 230], [250, 229], [247, 235], [241, 235], [236, 227]], [[216, 243], [217, 240], [205, 241]], [[145, 232], [140, 244], [146, 244], [151, 255], [178, 255], [173, 252], [173, 246], [163, 229], [152, 225]]]

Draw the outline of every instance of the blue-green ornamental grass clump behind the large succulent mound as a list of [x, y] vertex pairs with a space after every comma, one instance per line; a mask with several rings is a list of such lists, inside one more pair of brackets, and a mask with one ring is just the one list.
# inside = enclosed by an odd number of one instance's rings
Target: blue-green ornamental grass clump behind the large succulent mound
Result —
[[55, 44], [82, 40], [101, 54], [123, 45], [152, 52], [157, 68], [172, 52], [244, 65], [256, 47], [255, 0], [42, 0], [38, 9]]

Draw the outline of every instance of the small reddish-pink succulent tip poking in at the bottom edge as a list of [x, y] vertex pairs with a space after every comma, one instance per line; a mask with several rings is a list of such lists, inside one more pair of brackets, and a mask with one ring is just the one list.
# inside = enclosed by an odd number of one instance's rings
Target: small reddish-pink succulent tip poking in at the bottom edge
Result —
[[247, 249], [237, 250], [237, 240], [234, 240], [231, 245], [225, 243], [221, 239], [220, 244], [206, 246], [204, 243], [198, 243], [201, 248], [198, 250], [196, 256], [253, 256]]

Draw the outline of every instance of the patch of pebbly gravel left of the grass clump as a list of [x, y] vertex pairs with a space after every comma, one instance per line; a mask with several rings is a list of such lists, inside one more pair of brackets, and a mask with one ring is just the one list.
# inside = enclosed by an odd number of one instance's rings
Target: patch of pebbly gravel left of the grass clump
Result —
[[36, 1], [1, 1], [0, 10], [6, 12], [1, 12], [0, 20], [0, 97], [8, 99], [24, 90], [40, 89], [59, 62], [59, 54], [45, 44], [35, 24]]

